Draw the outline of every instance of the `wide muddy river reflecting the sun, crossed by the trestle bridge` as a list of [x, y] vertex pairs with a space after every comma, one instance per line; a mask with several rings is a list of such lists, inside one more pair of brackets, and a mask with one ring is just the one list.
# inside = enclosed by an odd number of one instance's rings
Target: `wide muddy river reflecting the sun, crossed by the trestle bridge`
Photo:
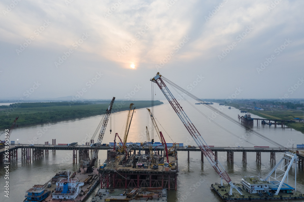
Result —
[[[181, 123], [181, 120], [175, 114], [170, 104], [168, 104], [168, 101], [163, 100], [163, 102], [164, 104], [154, 107], [154, 116], [161, 124], [158, 126], [163, 132], [166, 142], [171, 143], [173, 140], [176, 143], [195, 145], [192, 137], [189, 135], [185, 126]], [[193, 104], [195, 103], [195, 101], [190, 102]], [[202, 114], [198, 113], [196, 109], [189, 106], [186, 101], [181, 101], [180, 103], [206, 143], [211, 146], [252, 147], [253, 145], [250, 143], [254, 143], [258, 146], [273, 146], [256, 135], [249, 133], [244, 128], [228, 121], [222, 116], [212, 114], [212, 111], [206, 106], [195, 105], [195, 107], [200, 109], [206, 116], [212, 117], [216, 123], [250, 142], [243, 143], [242, 140], [239, 140], [237, 137], [216, 126], [214, 123], [209, 122], [206, 117], [202, 116]], [[223, 110], [224, 113], [236, 120], [237, 115], [240, 114], [238, 109], [228, 109], [227, 106], [219, 106], [217, 103], [214, 103], [213, 106]], [[112, 114], [112, 121], [109, 121], [102, 141], [103, 143], [113, 142], [116, 132], [123, 137], [123, 123], [126, 120], [126, 114], [126, 111]], [[252, 117], [258, 116], [252, 115]], [[90, 140], [101, 118], [102, 116], [93, 116], [38, 126], [15, 128], [10, 140], [15, 141], [15, 143], [17, 143], [18, 139], [19, 143], [24, 144], [44, 144], [46, 141], [52, 143], [52, 139], [56, 139], [57, 144], [71, 142], [85, 144], [86, 141]], [[109, 133], [110, 123], [112, 125], [111, 134]], [[147, 109], [135, 109], [129, 131], [128, 142], [146, 141], [146, 125], [151, 128], [151, 120], [148, 116]], [[292, 147], [292, 144], [295, 146], [296, 144], [304, 143], [303, 134], [290, 128], [282, 129], [281, 126], [275, 128], [274, 126], [264, 126], [261, 124], [260, 126], [257, 126], [256, 122], [254, 122], [253, 129], [286, 147]], [[2, 132], [3, 131], [0, 133]], [[155, 141], [158, 141], [156, 133], [154, 139]], [[26, 163], [25, 159], [21, 159], [20, 149], [18, 152], [18, 160], [12, 160], [9, 168], [9, 198], [4, 197], [4, 181], [6, 181], [4, 179], [5, 169], [4, 164], [0, 164], [0, 201], [23, 201], [26, 190], [31, 188], [34, 184], [44, 184], [61, 170], [76, 171], [79, 167], [79, 163], [75, 165], [72, 164], [72, 151], [56, 151], [55, 153], [52, 153], [50, 150], [49, 155], [39, 160], [34, 160], [32, 163]], [[256, 153], [247, 153], [247, 164], [242, 162], [242, 153], [234, 153], [234, 163], [227, 163], [226, 152], [219, 152], [218, 158], [232, 181], [238, 183], [243, 176], [257, 176], [259, 173], [263, 176], [273, 166], [270, 163], [270, 153], [261, 154], [261, 165], [257, 164], [255, 161], [255, 155]], [[200, 152], [190, 152], [190, 163], [188, 163], [187, 152], [178, 152], [178, 187], [177, 191], [171, 190], [168, 192], [168, 201], [221, 201], [216, 193], [209, 189], [211, 183], [219, 182], [219, 176], [213, 170], [205, 157], [204, 163], [201, 162], [200, 158]], [[278, 162], [281, 158], [282, 153], [276, 153], [276, 161]], [[99, 151], [98, 159], [101, 160], [101, 162], [106, 159], [105, 150]], [[304, 173], [299, 169], [299, 167], [296, 169], [298, 169], [297, 189], [304, 192]], [[293, 187], [294, 171], [295, 166], [293, 165], [289, 173], [289, 184]]]

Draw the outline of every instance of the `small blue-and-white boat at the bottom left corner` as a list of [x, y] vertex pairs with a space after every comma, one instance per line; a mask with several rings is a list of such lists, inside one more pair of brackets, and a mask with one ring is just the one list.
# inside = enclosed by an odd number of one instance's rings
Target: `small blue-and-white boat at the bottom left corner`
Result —
[[26, 199], [24, 202], [40, 202], [44, 200], [48, 195], [50, 195], [51, 191], [45, 189], [45, 185], [37, 184], [34, 185], [33, 188], [26, 191]]

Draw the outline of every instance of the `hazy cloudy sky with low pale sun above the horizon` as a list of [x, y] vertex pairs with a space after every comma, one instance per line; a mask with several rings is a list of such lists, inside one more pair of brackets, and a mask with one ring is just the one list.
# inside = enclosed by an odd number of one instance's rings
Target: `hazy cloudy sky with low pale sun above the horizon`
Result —
[[303, 98], [303, 9], [301, 0], [2, 0], [0, 99], [151, 99], [157, 72], [202, 99]]

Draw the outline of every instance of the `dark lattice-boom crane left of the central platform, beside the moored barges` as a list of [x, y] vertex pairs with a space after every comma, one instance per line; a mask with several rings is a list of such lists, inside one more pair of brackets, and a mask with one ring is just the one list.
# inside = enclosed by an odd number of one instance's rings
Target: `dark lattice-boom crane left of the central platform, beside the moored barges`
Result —
[[90, 160], [89, 157], [86, 158], [86, 160], [81, 160], [81, 167], [84, 169], [84, 168], [87, 168], [87, 173], [92, 173], [93, 172], [93, 167], [95, 165], [95, 161], [98, 157], [98, 151], [101, 147], [101, 143], [102, 143], [102, 139], [103, 139], [103, 136], [105, 134], [105, 128], [107, 127], [107, 124], [108, 124], [108, 121], [109, 121], [109, 117], [110, 117], [110, 114], [111, 114], [111, 110], [112, 110], [112, 106], [113, 106], [113, 103], [114, 103], [114, 100], [115, 100], [115, 97], [112, 98], [112, 101], [108, 107], [108, 109], [106, 110], [106, 113], [105, 113], [105, 117], [104, 117], [104, 120], [103, 120], [103, 124], [102, 124], [102, 127], [101, 127], [101, 130], [100, 130], [100, 133], [99, 133], [99, 136], [98, 136], [98, 139], [97, 139], [97, 142], [96, 142], [96, 146], [93, 150], [93, 156], [92, 156], [92, 159]]

